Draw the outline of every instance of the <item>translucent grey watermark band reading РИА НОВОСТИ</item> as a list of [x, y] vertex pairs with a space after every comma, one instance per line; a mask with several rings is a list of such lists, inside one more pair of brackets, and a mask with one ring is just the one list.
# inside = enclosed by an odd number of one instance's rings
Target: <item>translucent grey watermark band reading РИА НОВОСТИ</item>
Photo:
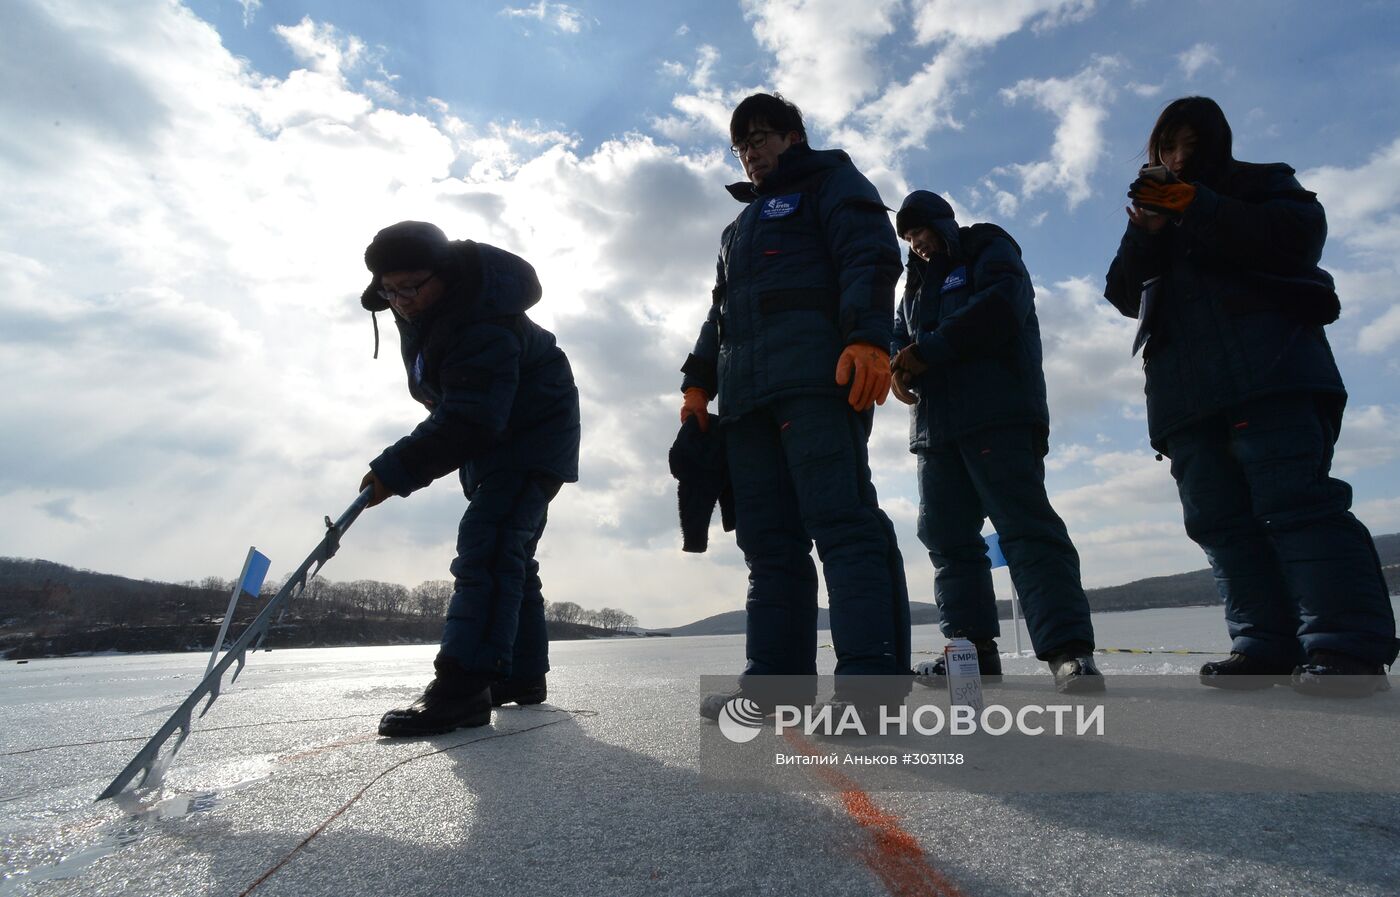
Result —
[[[1400, 793], [1400, 694], [1322, 700], [1229, 693], [1196, 676], [1117, 674], [1058, 694], [1047, 674], [948, 687], [876, 677], [704, 676], [718, 723], [694, 722], [699, 764], [722, 791]], [[738, 691], [738, 694], [736, 694]], [[854, 700], [851, 700], [854, 698]]]

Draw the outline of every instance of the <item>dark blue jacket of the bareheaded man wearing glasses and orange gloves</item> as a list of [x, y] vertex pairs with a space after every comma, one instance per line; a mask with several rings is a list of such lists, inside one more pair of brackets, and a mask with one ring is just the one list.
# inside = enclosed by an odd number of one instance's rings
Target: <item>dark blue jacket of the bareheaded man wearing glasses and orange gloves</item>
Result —
[[781, 396], [830, 393], [851, 343], [889, 346], [900, 259], [875, 186], [840, 150], [790, 147], [724, 229], [713, 304], [682, 390], [718, 393], [721, 418]]

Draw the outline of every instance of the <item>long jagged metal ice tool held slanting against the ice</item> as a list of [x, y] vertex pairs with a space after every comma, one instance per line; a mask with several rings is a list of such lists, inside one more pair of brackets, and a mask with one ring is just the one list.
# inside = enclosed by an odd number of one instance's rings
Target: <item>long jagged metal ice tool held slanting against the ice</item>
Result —
[[[234, 676], [228, 681], [232, 683], [238, 680], [238, 674], [244, 672], [244, 666], [248, 663], [248, 651], [258, 651], [258, 647], [262, 645], [263, 638], [267, 635], [267, 626], [272, 623], [273, 614], [283, 610], [294, 598], [301, 595], [301, 592], [307, 588], [307, 582], [315, 578], [315, 575], [321, 572], [321, 568], [326, 565], [326, 561], [335, 557], [336, 551], [340, 550], [340, 536], [350, 529], [350, 525], [354, 523], [356, 518], [360, 516], [360, 512], [365, 509], [365, 505], [370, 504], [370, 498], [372, 495], [374, 487], [367, 486], [364, 491], [360, 493], [353, 502], [350, 502], [350, 507], [346, 508], [346, 512], [340, 515], [339, 521], [332, 523], [330, 518], [326, 518], [326, 535], [321, 540], [321, 544], [318, 544], [307, 560], [301, 563], [301, 567], [291, 574], [287, 584], [281, 586], [277, 595], [267, 602], [267, 606], [262, 609], [258, 619], [248, 624], [248, 628], [238, 637], [238, 641], [228, 648], [224, 658], [214, 665], [214, 669], [211, 669], [209, 674], [204, 676], [203, 681], [195, 687], [195, 691], [185, 698], [185, 702], [179, 705], [179, 709], [171, 715], [164, 726], [161, 726], [161, 730], [151, 736], [151, 740], [146, 743], [146, 747], [132, 757], [132, 761], [127, 763], [126, 768], [112, 779], [112, 784], [106, 786], [106, 791], [98, 795], [98, 800], [115, 798], [122, 793], [130, 781], [136, 778], [137, 772], [144, 772], [137, 788], [146, 785], [153, 775], [160, 778], [158, 770], [164, 770], [165, 764], [168, 764], [171, 757], [175, 756], [175, 751], [178, 751], [181, 744], [185, 743], [185, 739], [189, 737], [195, 707], [199, 705], [200, 700], [203, 700], [207, 694], [209, 704], [204, 705], [204, 709], [202, 709], [199, 715], [203, 716], [209, 712], [209, 708], [214, 705], [214, 700], [218, 697], [218, 686], [224, 673], [234, 663], [238, 663], [238, 669], [234, 670]], [[161, 747], [165, 746], [165, 740], [176, 729], [179, 729], [179, 737], [175, 740], [169, 753], [164, 757], [164, 761], [158, 763], [161, 760]]]

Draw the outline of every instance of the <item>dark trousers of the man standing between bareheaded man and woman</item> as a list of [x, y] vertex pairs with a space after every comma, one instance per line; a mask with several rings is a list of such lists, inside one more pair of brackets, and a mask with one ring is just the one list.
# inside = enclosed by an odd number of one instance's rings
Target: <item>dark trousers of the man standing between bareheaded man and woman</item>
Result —
[[944, 635], [981, 640], [1001, 633], [981, 537], [991, 518], [1036, 656], [1049, 659], [1071, 642], [1092, 649], [1079, 554], [1046, 495], [1044, 438], [1032, 427], [1001, 427], [917, 455], [918, 540], [934, 563]]

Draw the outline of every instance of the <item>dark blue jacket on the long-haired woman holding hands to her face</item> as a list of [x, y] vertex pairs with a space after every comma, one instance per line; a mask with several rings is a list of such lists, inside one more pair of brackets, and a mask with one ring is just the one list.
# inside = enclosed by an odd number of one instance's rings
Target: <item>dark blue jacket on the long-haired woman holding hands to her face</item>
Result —
[[1105, 297], [1137, 318], [1144, 281], [1161, 276], [1142, 348], [1152, 445], [1205, 416], [1259, 396], [1313, 392], [1341, 423], [1345, 389], [1323, 334], [1337, 318], [1317, 267], [1327, 220], [1288, 165], [1232, 162], [1196, 183], [1179, 224], [1128, 224]]

